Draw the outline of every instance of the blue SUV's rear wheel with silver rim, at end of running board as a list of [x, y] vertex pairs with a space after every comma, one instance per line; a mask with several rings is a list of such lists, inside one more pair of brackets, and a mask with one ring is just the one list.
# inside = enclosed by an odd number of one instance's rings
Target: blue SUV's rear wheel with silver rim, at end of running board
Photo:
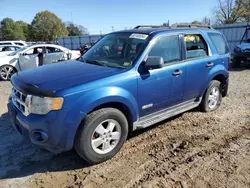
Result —
[[[216, 94], [215, 94], [216, 91]], [[218, 94], [217, 94], [218, 92]], [[213, 97], [212, 97], [213, 96]], [[212, 80], [205, 92], [201, 104], [200, 109], [203, 112], [212, 112], [219, 108], [222, 101], [222, 88], [221, 83], [218, 80]], [[213, 104], [214, 102], [214, 104]], [[213, 105], [212, 105], [213, 104]]]

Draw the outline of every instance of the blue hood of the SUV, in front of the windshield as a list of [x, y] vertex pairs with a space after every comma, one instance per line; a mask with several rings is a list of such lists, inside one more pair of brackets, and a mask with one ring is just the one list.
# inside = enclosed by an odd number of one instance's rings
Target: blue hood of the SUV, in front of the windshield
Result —
[[123, 69], [70, 60], [17, 73], [20, 81], [41, 89], [58, 91], [123, 72]]

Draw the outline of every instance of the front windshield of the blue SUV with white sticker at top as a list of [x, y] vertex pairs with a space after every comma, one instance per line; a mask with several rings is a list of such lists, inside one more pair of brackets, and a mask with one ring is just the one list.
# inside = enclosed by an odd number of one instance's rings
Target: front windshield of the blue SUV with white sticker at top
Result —
[[132, 66], [144, 50], [148, 35], [139, 33], [112, 33], [103, 37], [79, 60], [114, 68]]

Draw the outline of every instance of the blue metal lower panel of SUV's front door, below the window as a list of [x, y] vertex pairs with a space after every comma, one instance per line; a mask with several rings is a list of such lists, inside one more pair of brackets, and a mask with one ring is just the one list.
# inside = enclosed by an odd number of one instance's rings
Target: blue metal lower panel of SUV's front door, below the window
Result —
[[[174, 75], [177, 70], [180, 75]], [[185, 64], [175, 64], [151, 70], [138, 78], [140, 117], [183, 102]]]

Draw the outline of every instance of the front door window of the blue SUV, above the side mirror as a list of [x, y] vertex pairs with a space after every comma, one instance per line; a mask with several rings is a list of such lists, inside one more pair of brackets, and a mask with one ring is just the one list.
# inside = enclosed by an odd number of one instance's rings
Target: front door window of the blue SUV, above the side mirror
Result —
[[166, 64], [180, 61], [179, 36], [160, 37], [149, 52], [149, 56], [160, 56]]

